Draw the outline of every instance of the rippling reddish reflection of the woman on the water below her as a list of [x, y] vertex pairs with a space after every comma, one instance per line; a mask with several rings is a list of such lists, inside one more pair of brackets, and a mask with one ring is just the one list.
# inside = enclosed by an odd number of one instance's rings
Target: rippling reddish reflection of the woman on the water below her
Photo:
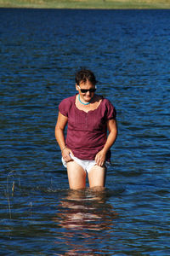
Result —
[[54, 221], [62, 233], [56, 242], [63, 245], [66, 243], [68, 255], [106, 253], [99, 246], [99, 241], [111, 240], [114, 222], [118, 218], [114, 208], [107, 202], [107, 197], [107, 190], [70, 189], [68, 195], [60, 200], [59, 212]]

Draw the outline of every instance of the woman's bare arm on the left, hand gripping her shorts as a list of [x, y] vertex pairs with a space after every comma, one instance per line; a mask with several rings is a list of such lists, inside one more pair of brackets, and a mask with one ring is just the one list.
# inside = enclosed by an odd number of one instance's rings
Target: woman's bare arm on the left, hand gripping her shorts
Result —
[[67, 148], [65, 144], [65, 126], [67, 124], [67, 121], [68, 118], [59, 112], [57, 124], [55, 125], [55, 137], [57, 142], [59, 143], [59, 148], [61, 149], [63, 159], [66, 162], [71, 160], [70, 154], [72, 154], [71, 149]]

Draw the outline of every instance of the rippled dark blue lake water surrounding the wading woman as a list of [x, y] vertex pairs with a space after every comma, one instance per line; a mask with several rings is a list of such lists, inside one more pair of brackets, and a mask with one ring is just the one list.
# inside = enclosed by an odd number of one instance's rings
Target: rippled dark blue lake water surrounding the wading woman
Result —
[[[0, 9], [0, 254], [170, 254], [170, 10]], [[79, 67], [117, 111], [106, 190], [54, 138]]]

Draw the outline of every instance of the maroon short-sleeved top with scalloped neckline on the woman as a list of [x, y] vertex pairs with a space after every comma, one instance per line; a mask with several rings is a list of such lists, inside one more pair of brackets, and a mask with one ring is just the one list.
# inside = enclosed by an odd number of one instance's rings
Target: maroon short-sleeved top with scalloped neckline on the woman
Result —
[[[88, 113], [76, 107], [76, 95], [64, 99], [59, 104], [59, 112], [68, 118], [66, 145], [82, 160], [94, 160], [104, 147], [107, 139], [107, 121], [116, 119], [116, 109], [105, 98], [99, 107]], [[111, 151], [106, 160], [111, 159]]]

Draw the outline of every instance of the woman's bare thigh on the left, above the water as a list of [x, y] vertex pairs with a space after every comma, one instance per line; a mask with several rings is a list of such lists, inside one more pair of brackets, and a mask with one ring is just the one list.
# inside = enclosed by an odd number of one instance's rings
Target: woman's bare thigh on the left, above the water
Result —
[[77, 162], [70, 161], [67, 163], [67, 174], [70, 189], [84, 189], [86, 187], [86, 172]]

